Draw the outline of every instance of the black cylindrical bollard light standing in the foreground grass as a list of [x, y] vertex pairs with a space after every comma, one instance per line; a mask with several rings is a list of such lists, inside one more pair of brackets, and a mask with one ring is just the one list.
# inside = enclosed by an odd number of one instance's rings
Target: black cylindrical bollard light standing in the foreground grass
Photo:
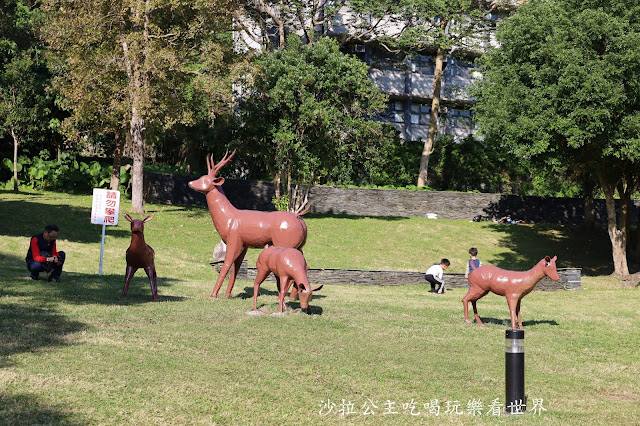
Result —
[[507, 414], [523, 413], [524, 396], [524, 330], [507, 330], [504, 348]]

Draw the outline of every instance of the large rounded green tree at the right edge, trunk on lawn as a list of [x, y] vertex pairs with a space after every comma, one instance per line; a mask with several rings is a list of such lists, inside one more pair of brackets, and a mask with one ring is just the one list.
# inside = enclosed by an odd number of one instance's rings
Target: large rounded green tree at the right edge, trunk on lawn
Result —
[[640, 182], [637, 12], [631, 0], [532, 0], [500, 26], [476, 92], [484, 134], [520, 156], [556, 157], [597, 176], [620, 275], [629, 273], [630, 199]]

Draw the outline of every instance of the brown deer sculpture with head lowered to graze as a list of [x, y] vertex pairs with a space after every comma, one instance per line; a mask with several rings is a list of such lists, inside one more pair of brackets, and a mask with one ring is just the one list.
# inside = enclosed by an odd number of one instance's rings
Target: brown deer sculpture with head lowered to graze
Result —
[[258, 310], [258, 290], [260, 289], [260, 284], [273, 272], [278, 284], [280, 313], [282, 313], [284, 308], [284, 297], [293, 283], [300, 298], [300, 309], [311, 315], [311, 308], [309, 307], [311, 296], [314, 291], [320, 290], [322, 286], [312, 288], [309, 284], [309, 278], [307, 278], [309, 266], [299, 250], [276, 246], [268, 247], [258, 255], [256, 267], [258, 274], [253, 283], [254, 311]]

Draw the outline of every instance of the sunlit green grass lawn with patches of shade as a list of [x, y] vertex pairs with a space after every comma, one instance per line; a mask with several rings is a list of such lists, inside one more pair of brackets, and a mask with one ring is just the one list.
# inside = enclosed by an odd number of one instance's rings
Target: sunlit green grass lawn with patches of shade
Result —
[[[129, 209], [124, 201], [121, 213]], [[602, 230], [305, 216], [312, 267], [423, 271], [448, 257], [448, 272], [463, 272], [471, 246], [508, 269], [546, 254], [582, 267], [582, 290], [522, 303], [529, 407], [516, 418], [491, 411], [505, 402], [509, 315], [498, 296], [478, 302], [484, 327], [464, 323], [463, 290], [428, 295], [426, 284], [329, 285], [314, 293], [312, 316], [297, 302], [284, 316], [247, 315], [250, 282], [229, 299], [208, 297], [219, 241], [208, 211], [147, 205], [163, 302], [151, 303], [142, 271], [122, 299], [129, 223], [107, 228], [98, 276], [101, 227], [90, 210], [90, 196], [0, 191], [0, 424], [640, 422], [640, 292], [608, 276]], [[29, 280], [24, 265], [29, 237], [50, 222], [67, 253], [57, 284]], [[260, 309], [275, 312], [275, 285], [260, 294]]]

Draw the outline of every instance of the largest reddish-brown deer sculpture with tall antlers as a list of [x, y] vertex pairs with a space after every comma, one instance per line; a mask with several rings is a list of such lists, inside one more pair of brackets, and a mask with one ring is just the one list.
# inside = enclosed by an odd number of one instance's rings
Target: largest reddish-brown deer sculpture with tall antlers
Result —
[[[220, 169], [231, 161], [234, 154], [227, 151], [218, 164], [213, 155], [207, 157], [208, 173], [189, 182], [189, 188], [202, 192], [207, 197], [209, 213], [220, 238], [227, 244], [224, 263], [213, 287], [211, 297], [218, 297], [218, 291], [231, 269], [225, 297], [231, 295], [248, 248], [266, 246], [290, 247], [302, 249], [307, 241], [307, 225], [299, 215], [289, 212], [262, 212], [236, 209], [222, 192], [224, 178], [217, 177]], [[304, 212], [300, 213], [304, 214]]]

